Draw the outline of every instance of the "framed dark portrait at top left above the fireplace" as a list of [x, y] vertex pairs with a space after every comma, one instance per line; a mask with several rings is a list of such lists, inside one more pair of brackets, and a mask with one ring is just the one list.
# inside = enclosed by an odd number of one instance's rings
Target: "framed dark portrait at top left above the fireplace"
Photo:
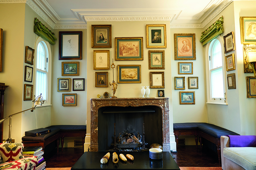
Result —
[[92, 25], [92, 48], [111, 48], [111, 25]]

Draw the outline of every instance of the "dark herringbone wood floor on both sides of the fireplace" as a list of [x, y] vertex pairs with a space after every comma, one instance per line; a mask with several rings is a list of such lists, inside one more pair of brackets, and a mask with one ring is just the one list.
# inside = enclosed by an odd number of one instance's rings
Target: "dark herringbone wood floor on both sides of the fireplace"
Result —
[[[199, 147], [200, 148], [200, 147]], [[203, 149], [196, 149], [196, 146], [178, 146], [178, 153], [173, 154], [174, 160], [180, 167], [220, 167], [216, 153]], [[82, 147], [64, 148], [59, 153], [52, 153], [45, 157], [46, 168], [72, 167], [83, 155]]]

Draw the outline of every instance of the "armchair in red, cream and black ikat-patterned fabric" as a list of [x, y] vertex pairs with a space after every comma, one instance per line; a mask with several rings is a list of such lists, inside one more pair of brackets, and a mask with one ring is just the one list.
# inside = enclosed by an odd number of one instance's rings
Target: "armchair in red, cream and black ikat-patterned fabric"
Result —
[[24, 158], [22, 143], [0, 144], [0, 169], [8, 170], [35, 170], [38, 164], [36, 156]]

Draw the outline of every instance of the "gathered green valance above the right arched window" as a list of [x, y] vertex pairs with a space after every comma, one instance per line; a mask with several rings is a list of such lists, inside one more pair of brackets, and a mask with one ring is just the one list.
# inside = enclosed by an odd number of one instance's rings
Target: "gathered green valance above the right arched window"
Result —
[[209, 29], [202, 32], [200, 42], [203, 42], [203, 45], [214, 39], [216, 36], [223, 33], [223, 16], [221, 16]]

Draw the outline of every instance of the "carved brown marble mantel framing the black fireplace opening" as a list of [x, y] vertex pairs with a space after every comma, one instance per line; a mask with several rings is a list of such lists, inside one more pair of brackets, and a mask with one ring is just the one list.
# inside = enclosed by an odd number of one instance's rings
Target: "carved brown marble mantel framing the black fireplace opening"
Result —
[[170, 152], [169, 136], [169, 98], [106, 98], [91, 100], [91, 143], [90, 151], [99, 151], [98, 143], [98, 110], [105, 106], [119, 107], [138, 107], [138, 106], [158, 106], [162, 110], [162, 133], [163, 133], [163, 151]]

